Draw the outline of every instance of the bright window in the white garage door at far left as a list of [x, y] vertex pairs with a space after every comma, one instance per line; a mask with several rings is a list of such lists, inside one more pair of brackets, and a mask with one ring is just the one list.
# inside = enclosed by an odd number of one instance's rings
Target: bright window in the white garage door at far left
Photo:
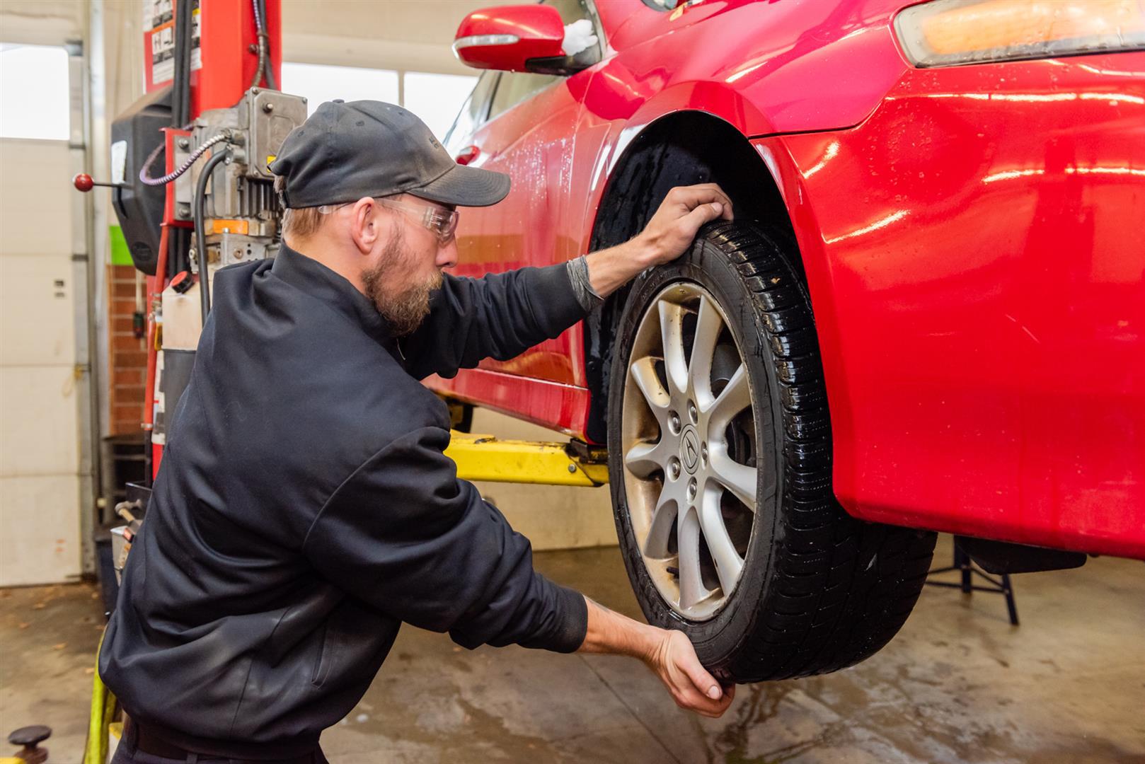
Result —
[[0, 137], [68, 140], [66, 50], [0, 42]]

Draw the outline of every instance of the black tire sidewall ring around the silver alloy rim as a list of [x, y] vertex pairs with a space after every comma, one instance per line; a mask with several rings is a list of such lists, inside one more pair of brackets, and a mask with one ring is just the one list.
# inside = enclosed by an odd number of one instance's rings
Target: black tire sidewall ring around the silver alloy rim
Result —
[[[743, 573], [728, 601], [706, 621], [690, 621], [673, 611], [661, 597], [645, 567], [629, 519], [621, 443], [624, 389], [629, 384], [632, 340], [646, 312], [654, 305], [655, 297], [673, 282], [680, 281], [700, 284], [722, 308], [747, 367], [757, 433], [757, 495], [760, 499], [757, 501], [757, 514]], [[779, 383], [766, 340], [766, 328], [751, 290], [729, 254], [701, 235], [684, 257], [646, 271], [633, 284], [615, 337], [608, 401], [608, 459], [616, 531], [624, 565], [648, 622], [684, 631], [692, 639], [704, 665], [720, 674], [719, 669], [732, 660], [755, 628], [761, 600], [767, 594], [775, 534], [780, 527], [777, 520], [783, 493], [782, 409], [776, 394]], [[763, 495], [767, 475], [765, 462], [771, 463], [776, 487], [768, 496]]]

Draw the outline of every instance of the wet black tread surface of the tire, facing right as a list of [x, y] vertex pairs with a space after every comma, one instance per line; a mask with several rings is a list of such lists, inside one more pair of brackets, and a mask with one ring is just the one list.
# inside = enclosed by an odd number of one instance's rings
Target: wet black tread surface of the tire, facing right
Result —
[[785, 486], [771, 592], [741, 649], [709, 668], [736, 682], [836, 671], [872, 655], [906, 622], [935, 536], [856, 520], [835, 499], [814, 316], [802, 274], [780, 243], [793, 251], [790, 237], [752, 223], [717, 223], [701, 237], [735, 265], [761, 318], [780, 385]]

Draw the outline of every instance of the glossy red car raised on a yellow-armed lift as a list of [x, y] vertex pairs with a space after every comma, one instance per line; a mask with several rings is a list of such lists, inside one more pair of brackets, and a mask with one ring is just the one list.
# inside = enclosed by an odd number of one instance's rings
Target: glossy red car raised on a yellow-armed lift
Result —
[[872, 654], [933, 531], [996, 572], [1145, 558], [1145, 3], [562, 0], [455, 50], [490, 71], [447, 145], [513, 178], [458, 273], [623, 242], [674, 186], [734, 202], [583, 325], [429, 380], [607, 444], [641, 606], [705, 664]]

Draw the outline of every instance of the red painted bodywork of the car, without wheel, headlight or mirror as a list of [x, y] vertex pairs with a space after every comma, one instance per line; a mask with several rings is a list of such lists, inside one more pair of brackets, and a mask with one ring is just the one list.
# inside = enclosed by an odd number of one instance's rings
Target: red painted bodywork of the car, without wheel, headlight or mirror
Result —
[[[1145, 558], [1145, 54], [918, 70], [903, 5], [598, 2], [610, 54], [475, 133], [514, 188], [459, 271], [586, 252], [632, 140], [719, 117], [792, 221], [846, 510]], [[583, 436], [583, 347], [429, 384]]]

